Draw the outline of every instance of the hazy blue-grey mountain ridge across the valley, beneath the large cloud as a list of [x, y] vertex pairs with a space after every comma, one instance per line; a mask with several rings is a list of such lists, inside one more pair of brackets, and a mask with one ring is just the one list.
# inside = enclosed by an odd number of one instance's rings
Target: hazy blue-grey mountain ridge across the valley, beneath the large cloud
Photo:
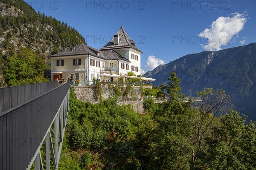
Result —
[[184, 94], [195, 96], [205, 87], [222, 88], [238, 111], [256, 120], [256, 43], [189, 54], [143, 76], [157, 79], [153, 85], [166, 85], [171, 72], [181, 79]]

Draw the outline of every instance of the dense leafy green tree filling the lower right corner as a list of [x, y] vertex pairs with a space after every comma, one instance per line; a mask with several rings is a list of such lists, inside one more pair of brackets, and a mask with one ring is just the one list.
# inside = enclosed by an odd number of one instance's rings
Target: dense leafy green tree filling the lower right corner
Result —
[[201, 153], [204, 164], [211, 170], [256, 170], [255, 123], [244, 125], [246, 116], [236, 111], [220, 117], [207, 139], [207, 150]]

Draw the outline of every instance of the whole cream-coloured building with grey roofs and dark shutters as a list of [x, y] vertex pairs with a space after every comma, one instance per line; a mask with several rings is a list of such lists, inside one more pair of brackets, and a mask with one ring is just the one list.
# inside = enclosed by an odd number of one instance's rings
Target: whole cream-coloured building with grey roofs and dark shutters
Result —
[[70, 78], [80, 84], [88, 84], [93, 79], [116, 81], [117, 77], [104, 76], [107, 74], [124, 75], [132, 71], [139, 75], [141, 54], [142, 51], [121, 26], [108, 44], [99, 50], [80, 44], [49, 56], [51, 81]]

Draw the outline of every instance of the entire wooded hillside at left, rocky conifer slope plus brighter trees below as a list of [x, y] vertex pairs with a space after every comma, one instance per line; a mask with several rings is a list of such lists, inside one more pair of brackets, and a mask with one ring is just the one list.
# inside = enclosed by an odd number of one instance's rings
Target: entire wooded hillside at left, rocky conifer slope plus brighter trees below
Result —
[[73, 43], [85, 40], [67, 23], [23, 0], [0, 0], [0, 87], [49, 81], [43, 72], [50, 68], [47, 56]]

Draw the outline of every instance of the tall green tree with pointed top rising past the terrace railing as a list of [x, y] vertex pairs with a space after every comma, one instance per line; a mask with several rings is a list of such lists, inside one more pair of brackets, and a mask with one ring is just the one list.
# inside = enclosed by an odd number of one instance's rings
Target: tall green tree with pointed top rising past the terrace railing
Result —
[[[192, 111], [189, 102], [181, 102], [180, 79], [175, 73], [169, 77], [169, 86], [162, 85], [170, 96], [169, 101], [159, 104], [153, 111], [154, 129], [151, 131], [151, 141], [146, 143], [143, 169], [148, 170], [187, 170], [190, 167], [189, 158], [192, 136]], [[148, 101], [150, 102], [150, 101]], [[145, 108], [149, 108], [145, 102]], [[148, 139], [146, 139], [148, 140]]]

